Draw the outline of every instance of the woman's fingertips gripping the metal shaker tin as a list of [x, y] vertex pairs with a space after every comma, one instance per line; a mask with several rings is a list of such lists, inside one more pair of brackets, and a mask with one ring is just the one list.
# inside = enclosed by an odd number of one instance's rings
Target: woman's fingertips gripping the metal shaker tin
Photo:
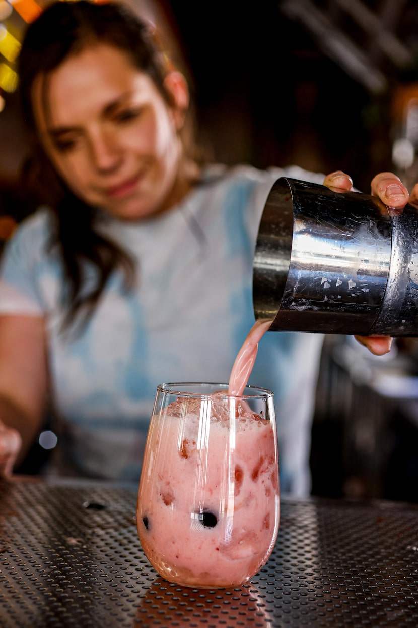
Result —
[[[353, 188], [353, 181], [350, 176], [337, 170], [325, 177], [323, 185], [335, 192], [349, 192]], [[381, 172], [376, 175], [372, 179], [371, 192], [387, 206], [391, 215], [402, 212], [407, 202], [418, 208], [418, 183], [409, 195], [399, 176], [392, 172]], [[389, 352], [393, 340], [389, 336], [355, 336], [355, 339], [374, 355]]]

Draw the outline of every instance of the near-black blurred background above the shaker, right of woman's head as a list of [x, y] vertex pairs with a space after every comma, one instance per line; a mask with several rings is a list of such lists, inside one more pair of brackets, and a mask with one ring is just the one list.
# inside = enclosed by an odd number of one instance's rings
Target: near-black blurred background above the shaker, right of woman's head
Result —
[[[369, 68], [384, 74], [386, 87], [372, 89], [360, 71], [349, 75], [342, 67], [348, 51], [340, 57], [327, 53], [327, 44], [306, 24], [290, 19], [283, 4], [162, 3], [191, 71], [205, 137], [221, 161], [249, 161], [261, 168], [296, 163], [325, 173], [341, 169], [367, 192], [372, 176], [393, 170], [392, 101], [399, 85], [416, 79], [415, 58], [404, 67], [395, 65], [377, 46], [375, 33], [340, 3], [308, 3], [337, 40], [349, 40]], [[417, 3], [360, 4], [385, 21], [415, 57]]]

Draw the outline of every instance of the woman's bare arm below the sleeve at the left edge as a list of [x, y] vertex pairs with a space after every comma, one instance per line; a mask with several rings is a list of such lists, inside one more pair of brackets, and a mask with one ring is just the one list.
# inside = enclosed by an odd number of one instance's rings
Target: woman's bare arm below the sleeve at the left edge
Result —
[[21, 462], [43, 420], [48, 386], [41, 317], [0, 315], [0, 475]]

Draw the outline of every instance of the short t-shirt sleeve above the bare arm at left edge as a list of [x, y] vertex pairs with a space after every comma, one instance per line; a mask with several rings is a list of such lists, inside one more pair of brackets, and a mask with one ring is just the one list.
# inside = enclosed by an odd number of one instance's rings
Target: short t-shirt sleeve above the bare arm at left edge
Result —
[[6, 243], [0, 261], [0, 314], [43, 316], [38, 286], [45, 221], [34, 216], [24, 221]]

